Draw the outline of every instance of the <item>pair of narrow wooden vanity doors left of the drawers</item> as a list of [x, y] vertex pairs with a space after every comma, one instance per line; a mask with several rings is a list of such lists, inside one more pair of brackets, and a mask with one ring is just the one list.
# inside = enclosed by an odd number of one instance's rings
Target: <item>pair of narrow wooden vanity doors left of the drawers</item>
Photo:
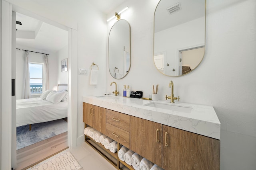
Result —
[[83, 103], [83, 121], [106, 135], [106, 109]]

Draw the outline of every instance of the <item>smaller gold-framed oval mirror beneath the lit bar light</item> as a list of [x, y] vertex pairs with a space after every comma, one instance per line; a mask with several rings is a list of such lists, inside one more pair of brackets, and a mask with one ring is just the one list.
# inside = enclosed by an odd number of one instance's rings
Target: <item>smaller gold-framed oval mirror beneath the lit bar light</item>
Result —
[[126, 20], [118, 20], [108, 37], [108, 69], [112, 77], [124, 78], [131, 66], [131, 28]]

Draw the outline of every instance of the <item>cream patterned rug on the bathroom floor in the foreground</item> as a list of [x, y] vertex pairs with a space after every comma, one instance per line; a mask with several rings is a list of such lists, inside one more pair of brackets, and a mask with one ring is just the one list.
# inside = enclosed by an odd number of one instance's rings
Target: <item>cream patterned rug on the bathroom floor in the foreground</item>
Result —
[[57, 156], [39, 163], [31, 170], [84, 170], [70, 151], [64, 151]]

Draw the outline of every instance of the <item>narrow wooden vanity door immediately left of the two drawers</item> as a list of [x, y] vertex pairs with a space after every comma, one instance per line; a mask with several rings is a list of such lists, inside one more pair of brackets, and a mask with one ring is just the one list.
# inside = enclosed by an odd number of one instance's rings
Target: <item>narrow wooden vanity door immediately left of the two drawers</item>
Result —
[[92, 116], [92, 127], [106, 135], [106, 109], [103, 107], [94, 106]]

